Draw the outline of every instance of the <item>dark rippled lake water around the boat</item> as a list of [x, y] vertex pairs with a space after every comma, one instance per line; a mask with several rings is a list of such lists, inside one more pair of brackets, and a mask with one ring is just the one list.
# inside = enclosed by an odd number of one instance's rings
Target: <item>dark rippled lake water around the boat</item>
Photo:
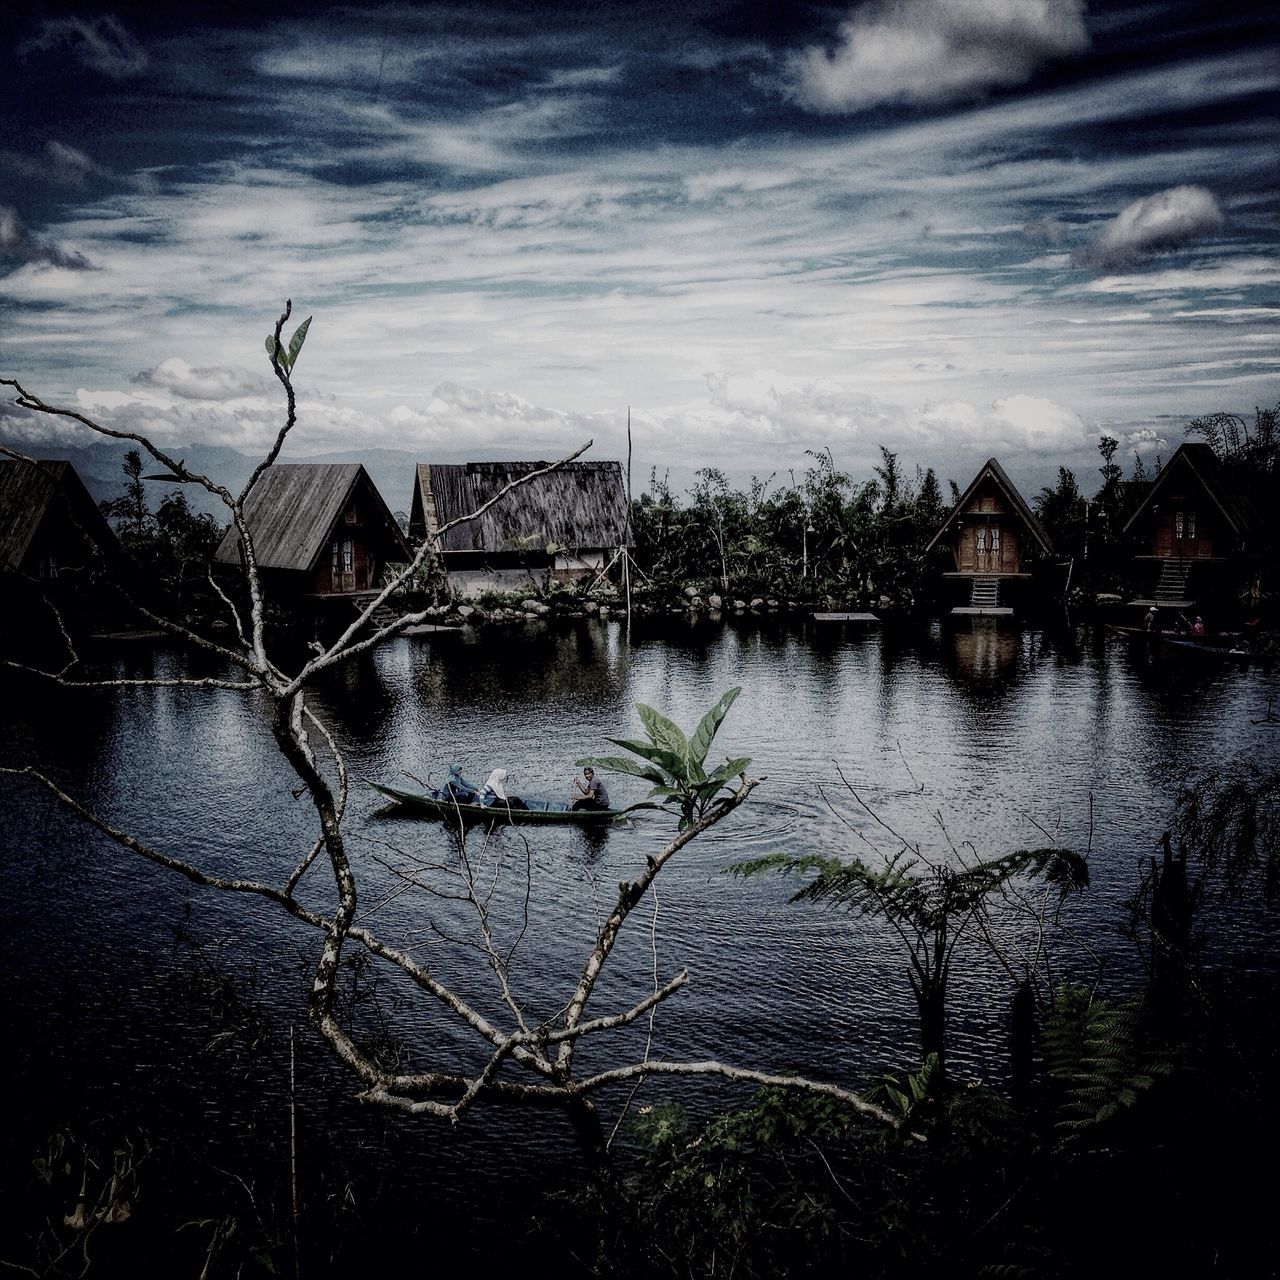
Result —
[[[164, 649], [106, 658], [119, 676], [188, 669], [188, 659]], [[876, 922], [788, 905], [794, 886], [744, 882], [724, 867], [772, 851], [874, 859], [896, 847], [888, 828], [940, 858], [952, 845], [982, 855], [1048, 842], [1088, 847], [1093, 886], [1069, 914], [1075, 941], [1059, 940], [1060, 965], [1089, 972], [1097, 956], [1123, 982], [1133, 970], [1117, 933], [1123, 902], [1179, 785], [1242, 753], [1274, 760], [1280, 745], [1274, 726], [1254, 723], [1276, 690], [1274, 676], [1192, 662], [1152, 666], [1092, 628], [1050, 636], [973, 623], [896, 636], [760, 623], [639, 628], [628, 643], [616, 622], [571, 631], [530, 625], [401, 639], [332, 680], [317, 705], [356, 783], [347, 829], [365, 923], [430, 959], [498, 1016], [492, 977], [474, 951], [448, 941], [472, 922], [457, 904], [404, 891], [408, 868], [457, 865], [451, 836], [438, 823], [385, 815], [358, 780], [438, 780], [442, 763], [458, 759], [472, 777], [504, 765], [517, 792], [566, 794], [579, 756], [612, 751], [607, 737], [639, 735], [635, 703], [690, 727], [740, 685], [717, 750], [750, 755], [751, 772], [767, 781], [663, 872], [657, 901], [632, 916], [594, 1009], [623, 1009], [652, 989], [654, 973], [666, 980], [687, 966], [689, 986], [657, 1018], [655, 1053], [800, 1068], [859, 1084], [915, 1053], [893, 937]], [[10, 682], [3, 724], [3, 763], [40, 763], [108, 819], [207, 870], [282, 881], [312, 838], [252, 699], [32, 692]], [[616, 803], [644, 791], [630, 778], [608, 785]], [[64, 1053], [68, 1044], [110, 1043], [111, 1061], [155, 1059], [163, 1073], [170, 1042], [180, 1039], [155, 1021], [168, 1007], [161, 988], [177, 964], [175, 925], [205, 946], [216, 942], [229, 972], [257, 965], [275, 1016], [301, 1021], [315, 940], [269, 905], [192, 888], [86, 831], [26, 783], [0, 783], [0, 812], [5, 1010], [35, 1025], [37, 1057], [41, 1039]], [[563, 1004], [618, 881], [669, 835], [666, 818], [646, 814], [605, 832], [520, 828], [497, 831], [488, 844], [480, 833], [470, 838], [480, 869], [500, 872], [499, 942], [520, 925], [530, 869], [513, 980], [532, 1016]], [[305, 884], [303, 896], [328, 901], [323, 873]], [[1025, 938], [1012, 929], [1007, 941]], [[1004, 1075], [1007, 998], [989, 956], [960, 966], [951, 1005], [961, 1074]], [[379, 1016], [419, 1066], [483, 1060], [439, 1010], [394, 982]], [[646, 1033], [641, 1021], [581, 1060], [627, 1061], [644, 1051]], [[234, 1124], [234, 1094], [207, 1105]], [[513, 1167], [543, 1140], [536, 1126], [506, 1120], [479, 1120], [476, 1132]], [[462, 1158], [456, 1137], [433, 1143], [439, 1169]], [[465, 1179], [440, 1176], [449, 1194], [465, 1197]]]

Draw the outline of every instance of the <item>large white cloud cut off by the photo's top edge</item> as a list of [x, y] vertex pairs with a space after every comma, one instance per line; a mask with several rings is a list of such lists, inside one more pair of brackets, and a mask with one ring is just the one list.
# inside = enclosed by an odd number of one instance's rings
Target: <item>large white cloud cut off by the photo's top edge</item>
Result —
[[1021, 84], [1088, 46], [1083, 0], [872, 0], [841, 24], [835, 51], [805, 49], [788, 73], [803, 106], [858, 111]]

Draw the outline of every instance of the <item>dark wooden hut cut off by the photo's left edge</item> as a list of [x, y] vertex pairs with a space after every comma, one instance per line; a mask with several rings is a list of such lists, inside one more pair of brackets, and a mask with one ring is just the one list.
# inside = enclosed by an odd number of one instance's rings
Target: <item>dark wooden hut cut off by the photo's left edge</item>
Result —
[[69, 462], [0, 463], [0, 573], [50, 582], [118, 547]]

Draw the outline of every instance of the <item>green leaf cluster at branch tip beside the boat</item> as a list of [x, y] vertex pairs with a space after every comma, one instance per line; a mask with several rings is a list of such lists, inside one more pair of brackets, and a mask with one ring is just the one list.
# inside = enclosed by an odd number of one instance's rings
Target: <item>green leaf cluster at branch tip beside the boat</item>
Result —
[[[750, 756], [727, 758], [714, 769], [707, 769], [707, 753], [710, 750], [721, 722], [728, 714], [741, 687], [731, 689], [701, 718], [698, 728], [686, 737], [673, 721], [667, 719], [644, 703], [636, 703], [636, 713], [649, 736], [646, 742], [626, 737], [611, 737], [614, 746], [621, 746], [639, 759], [625, 755], [588, 756], [577, 762], [579, 768], [591, 765], [598, 769], [611, 769], [614, 773], [628, 773], [653, 783], [648, 800], [658, 800], [652, 808], [671, 808], [680, 814], [680, 829], [698, 822], [710, 803], [730, 780], [745, 773]], [[660, 797], [660, 800], [659, 800]], [[637, 806], [634, 806], [637, 808]]]

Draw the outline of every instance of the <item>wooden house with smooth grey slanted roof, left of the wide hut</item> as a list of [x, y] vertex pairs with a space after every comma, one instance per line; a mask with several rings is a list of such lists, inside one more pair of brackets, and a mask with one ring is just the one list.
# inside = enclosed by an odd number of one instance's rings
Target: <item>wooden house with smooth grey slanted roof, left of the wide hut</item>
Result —
[[[396, 518], [357, 462], [268, 468], [244, 503], [244, 521], [264, 581], [312, 602], [358, 603], [378, 590], [387, 564], [412, 558]], [[214, 559], [241, 563], [234, 526]]]

